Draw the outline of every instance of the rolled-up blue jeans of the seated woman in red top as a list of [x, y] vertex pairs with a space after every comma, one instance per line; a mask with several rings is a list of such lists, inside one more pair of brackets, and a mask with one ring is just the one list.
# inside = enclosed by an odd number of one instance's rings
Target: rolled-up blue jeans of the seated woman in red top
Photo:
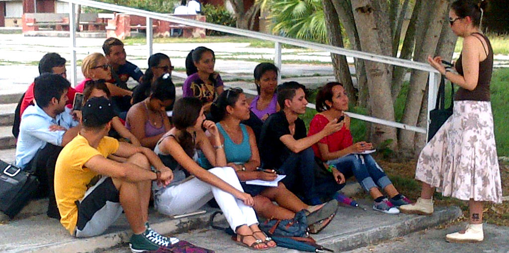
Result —
[[327, 161], [329, 165], [335, 165], [337, 170], [345, 175], [345, 178], [355, 176], [357, 182], [366, 190], [379, 186], [385, 188], [392, 184], [380, 165], [371, 155], [350, 154], [344, 157]]

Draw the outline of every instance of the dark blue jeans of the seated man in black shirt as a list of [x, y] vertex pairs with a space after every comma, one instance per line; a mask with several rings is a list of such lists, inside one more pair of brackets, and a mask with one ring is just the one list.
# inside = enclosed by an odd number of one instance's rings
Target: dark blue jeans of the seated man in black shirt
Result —
[[280, 174], [287, 175], [282, 183], [296, 195], [301, 195], [304, 202], [312, 199], [327, 199], [340, 190], [345, 184], [337, 184], [332, 175], [316, 177], [315, 153], [307, 148], [299, 153], [291, 154], [279, 167]]

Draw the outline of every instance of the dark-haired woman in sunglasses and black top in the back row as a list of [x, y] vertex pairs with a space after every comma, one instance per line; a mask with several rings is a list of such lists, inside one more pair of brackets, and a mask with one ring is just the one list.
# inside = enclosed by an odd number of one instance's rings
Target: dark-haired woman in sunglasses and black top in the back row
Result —
[[169, 74], [172, 76], [172, 61], [164, 53], [154, 53], [149, 58], [149, 68], [145, 71], [143, 82], [136, 86], [132, 94], [132, 104], [139, 103], [150, 95], [150, 88], [157, 78]]

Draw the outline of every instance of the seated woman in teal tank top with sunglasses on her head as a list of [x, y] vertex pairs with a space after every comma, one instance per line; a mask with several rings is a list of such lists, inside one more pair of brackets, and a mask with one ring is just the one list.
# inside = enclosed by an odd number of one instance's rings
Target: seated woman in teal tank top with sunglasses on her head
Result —
[[[224, 146], [227, 165], [236, 171], [244, 191], [253, 196], [253, 208], [258, 215], [265, 218], [291, 219], [302, 209], [314, 212], [323, 206], [304, 204], [282, 183], [277, 187], [245, 184], [245, 181], [254, 179], [273, 181], [277, 175], [272, 170], [258, 170], [260, 155], [256, 137], [249, 126], [240, 124], [242, 120], [249, 118], [249, 104], [242, 89], [223, 92], [212, 105], [211, 113], [219, 120], [216, 125]], [[278, 205], [274, 205], [272, 201]]]

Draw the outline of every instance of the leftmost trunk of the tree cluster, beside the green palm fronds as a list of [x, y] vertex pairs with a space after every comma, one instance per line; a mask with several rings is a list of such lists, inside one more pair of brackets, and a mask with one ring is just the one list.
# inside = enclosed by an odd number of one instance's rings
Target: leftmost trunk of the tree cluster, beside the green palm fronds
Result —
[[[334, 10], [331, 0], [322, 0], [323, 11], [325, 15], [325, 24], [327, 26], [327, 37], [329, 44], [337, 47], [345, 47], [343, 44], [343, 35], [341, 34], [340, 19]], [[353, 87], [352, 76], [350, 68], [348, 67], [347, 58], [345, 55], [331, 53], [332, 66], [334, 69], [334, 76], [338, 82], [343, 83], [347, 91], [350, 102], [357, 104], [357, 92]]]

